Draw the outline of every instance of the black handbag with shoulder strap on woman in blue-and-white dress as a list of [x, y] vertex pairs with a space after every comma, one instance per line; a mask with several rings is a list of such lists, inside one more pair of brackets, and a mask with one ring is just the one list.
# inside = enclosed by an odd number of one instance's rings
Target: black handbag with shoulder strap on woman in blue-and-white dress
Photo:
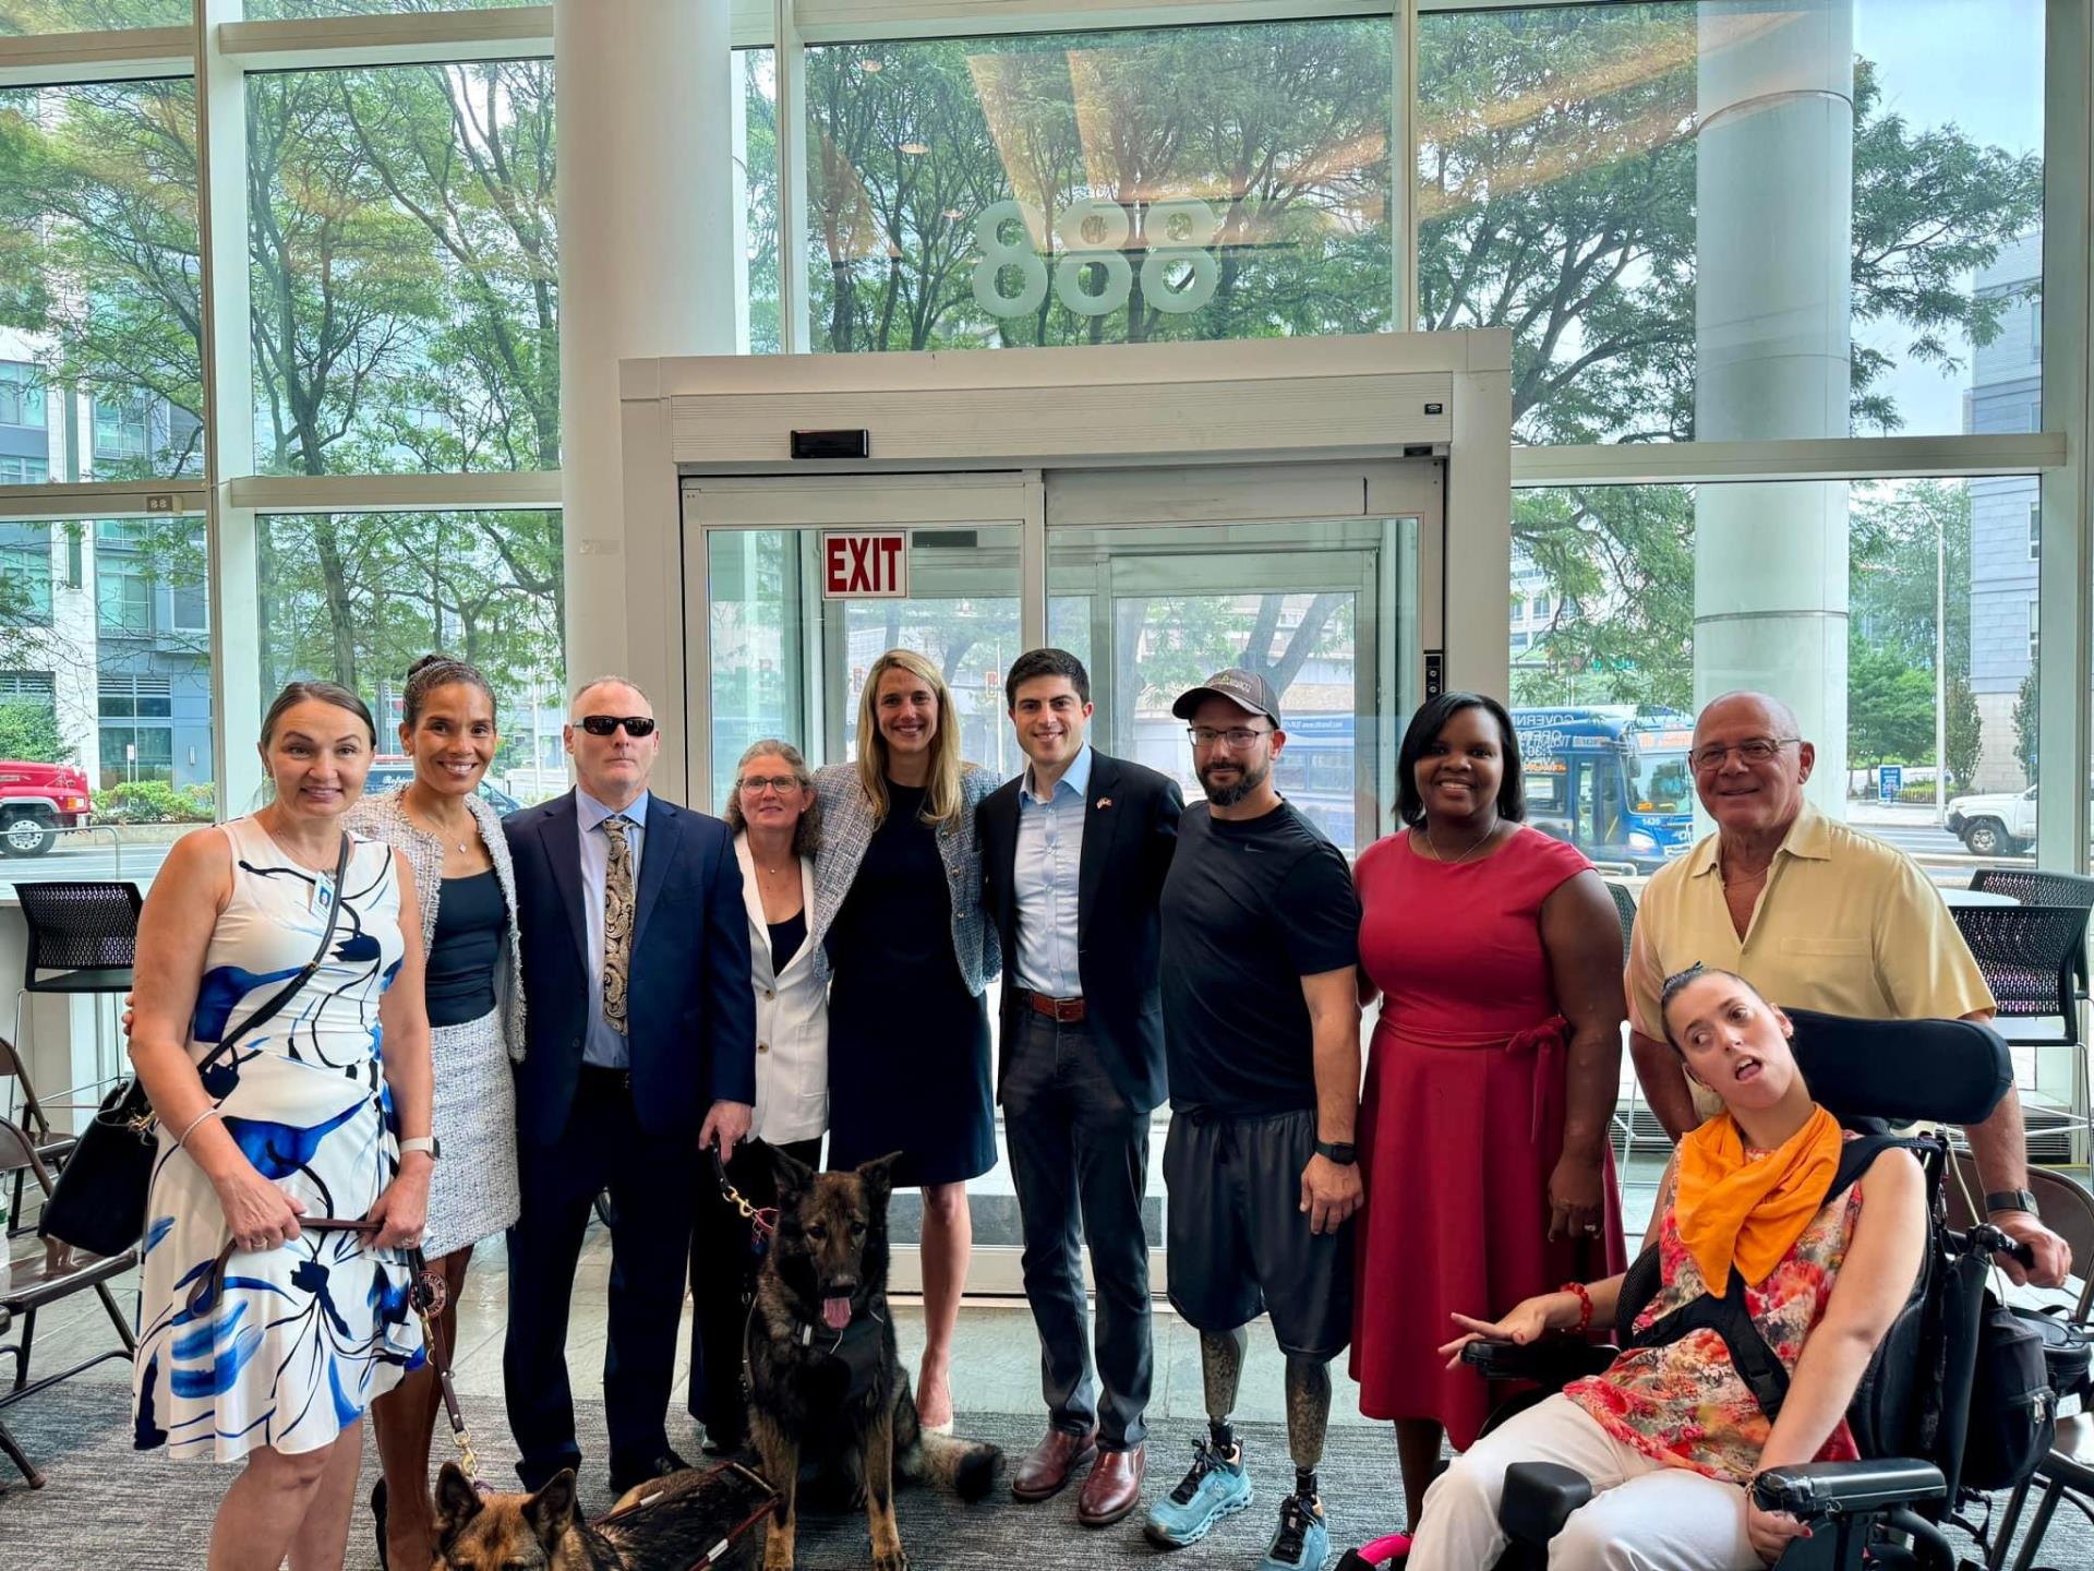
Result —
[[[228, 1026], [220, 1043], [197, 1064], [201, 1075], [232, 1052], [255, 1026], [272, 1020], [279, 1010], [297, 997], [297, 991], [312, 980], [335, 943], [335, 922], [341, 915], [341, 882], [350, 873], [350, 836], [341, 836], [341, 855], [335, 857], [335, 897], [327, 903], [327, 930], [312, 959], [285, 987], [249, 1014], [239, 1028]], [[80, 1131], [80, 1139], [59, 1181], [44, 1200], [44, 1215], [38, 1221], [38, 1236], [57, 1238], [90, 1255], [121, 1255], [138, 1242], [144, 1232], [147, 1190], [153, 1186], [153, 1158], [159, 1152], [153, 1102], [144, 1085], [134, 1075], [124, 1085], [103, 1098], [94, 1119]]]

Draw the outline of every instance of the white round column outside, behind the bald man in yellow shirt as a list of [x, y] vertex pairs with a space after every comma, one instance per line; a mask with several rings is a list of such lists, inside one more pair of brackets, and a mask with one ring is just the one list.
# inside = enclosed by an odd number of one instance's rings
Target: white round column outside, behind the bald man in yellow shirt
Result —
[[[1853, 0], [1705, 0], [1696, 134], [1694, 436], [1847, 436]], [[1847, 486], [1702, 486], [1694, 702], [1784, 698], [1845, 817]]]

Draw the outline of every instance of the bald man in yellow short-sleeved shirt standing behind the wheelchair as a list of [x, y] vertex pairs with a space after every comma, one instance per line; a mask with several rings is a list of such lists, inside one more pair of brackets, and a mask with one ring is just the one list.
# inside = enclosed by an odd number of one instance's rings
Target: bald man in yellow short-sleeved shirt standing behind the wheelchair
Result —
[[[1694, 725], [1694, 790], [1715, 834], [1652, 876], [1629, 943], [1629, 1052], [1673, 1139], [1700, 1123], [1658, 993], [1696, 961], [1774, 1003], [1870, 1020], [1989, 1020], [1991, 989], [1918, 863], [1803, 800], [1815, 750], [1765, 693], [1725, 693]], [[1964, 1131], [1993, 1225], [2035, 1251], [2027, 1280], [2056, 1286], [2071, 1248], [2027, 1192], [2021, 1093]], [[2006, 1261], [2002, 1261], [2006, 1263]], [[2021, 1280], [2019, 1265], [2006, 1263]]]

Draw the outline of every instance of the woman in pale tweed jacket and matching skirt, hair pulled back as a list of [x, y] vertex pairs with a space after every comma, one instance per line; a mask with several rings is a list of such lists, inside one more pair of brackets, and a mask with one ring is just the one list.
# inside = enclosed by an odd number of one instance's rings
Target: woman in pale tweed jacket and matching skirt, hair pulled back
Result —
[[[515, 876], [500, 819], [480, 796], [498, 742], [488, 679], [463, 660], [423, 656], [408, 672], [400, 725], [415, 779], [350, 811], [352, 829], [406, 853], [423, 892], [440, 1148], [423, 1251], [444, 1276], [446, 1347], [456, 1347], [473, 1244], [509, 1227], [519, 1204], [509, 1068], [511, 1058], [524, 1058]], [[371, 1406], [385, 1468], [371, 1491], [381, 1563], [419, 1571], [436, 1556], [429, 1435], [440, 1399], [423, 1366]]]

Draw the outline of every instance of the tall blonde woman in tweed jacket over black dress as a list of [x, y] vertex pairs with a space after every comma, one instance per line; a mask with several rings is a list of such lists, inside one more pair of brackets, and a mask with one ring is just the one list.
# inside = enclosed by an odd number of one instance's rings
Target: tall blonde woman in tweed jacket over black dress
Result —
[[917, 1410], [953, 1420], [953, 1326], [967, 1282], [967, 1179], [997, 1163], [982, 991], [1001, 966], [982, 915], [974, 809], [995, 775], [959, 756], [938, 668], [888, 649], [865, 677], [859, 760], [815, 775], [815, 928], [829, 993], [829, 1167], [900, 1152], [923, 1192]]

